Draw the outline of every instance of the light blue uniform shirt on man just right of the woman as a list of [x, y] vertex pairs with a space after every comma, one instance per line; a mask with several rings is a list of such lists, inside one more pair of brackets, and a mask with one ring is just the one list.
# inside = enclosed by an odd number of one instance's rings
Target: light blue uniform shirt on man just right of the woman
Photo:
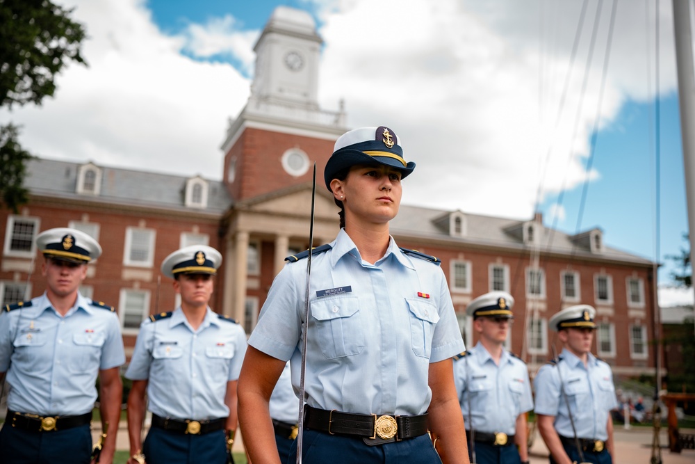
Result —
[[[500, 365], [480, 342], [454, 358], [454, 383], [466, 429], [507, 435], [516, 433], [516, 418], [533, 409], [526, 363], [502, 350]], [[468, 404], [471, 414], [468, 414]]]

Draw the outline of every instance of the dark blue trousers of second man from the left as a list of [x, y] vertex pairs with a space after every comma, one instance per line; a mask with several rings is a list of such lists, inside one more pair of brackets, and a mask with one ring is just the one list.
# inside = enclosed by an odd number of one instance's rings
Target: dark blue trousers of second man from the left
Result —
[[147, 464], [227, 464], [224, 430], [186, 435], [152, 427], [142, 443]]

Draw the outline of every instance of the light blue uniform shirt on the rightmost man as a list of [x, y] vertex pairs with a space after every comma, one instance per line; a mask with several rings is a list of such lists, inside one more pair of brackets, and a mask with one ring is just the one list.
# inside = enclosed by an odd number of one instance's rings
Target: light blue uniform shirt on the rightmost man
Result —
[[555, 416], [555, 431], [573, 438], [567, 402], [560, 391], [560, 378], [578, 438], [607, 440], [608, 415], [618, 407], [610, 366], [589, 353], [587, 367], [584, 367], [577, 356], [564, 349], [559, 362], [539, 369], [534, 380], [535, 413]]

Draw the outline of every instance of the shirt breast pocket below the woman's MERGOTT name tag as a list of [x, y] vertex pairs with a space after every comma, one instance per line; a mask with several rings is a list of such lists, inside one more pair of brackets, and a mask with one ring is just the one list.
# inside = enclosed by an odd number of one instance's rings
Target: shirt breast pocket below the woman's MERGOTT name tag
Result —
[[[326, 358], [356, 355], [364, 348], [359, 298], [341, 296], [311, 302], [311, 316]], [[311, 339], [311, 338], [309, 338]]]

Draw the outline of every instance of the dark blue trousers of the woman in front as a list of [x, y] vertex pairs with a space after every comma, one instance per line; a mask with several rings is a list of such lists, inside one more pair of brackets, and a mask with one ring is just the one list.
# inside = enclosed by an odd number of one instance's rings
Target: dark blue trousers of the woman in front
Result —
[[[306, 464], [441, 464], [429, 435], [368, 446], [361, 438], [330, 435], [305, 430], [302, 438], [302, 462]], [[287, 464], [297, 461], [297, 440], [294, 440]], [[149, 464], [149, 461], [148, 461]]]

